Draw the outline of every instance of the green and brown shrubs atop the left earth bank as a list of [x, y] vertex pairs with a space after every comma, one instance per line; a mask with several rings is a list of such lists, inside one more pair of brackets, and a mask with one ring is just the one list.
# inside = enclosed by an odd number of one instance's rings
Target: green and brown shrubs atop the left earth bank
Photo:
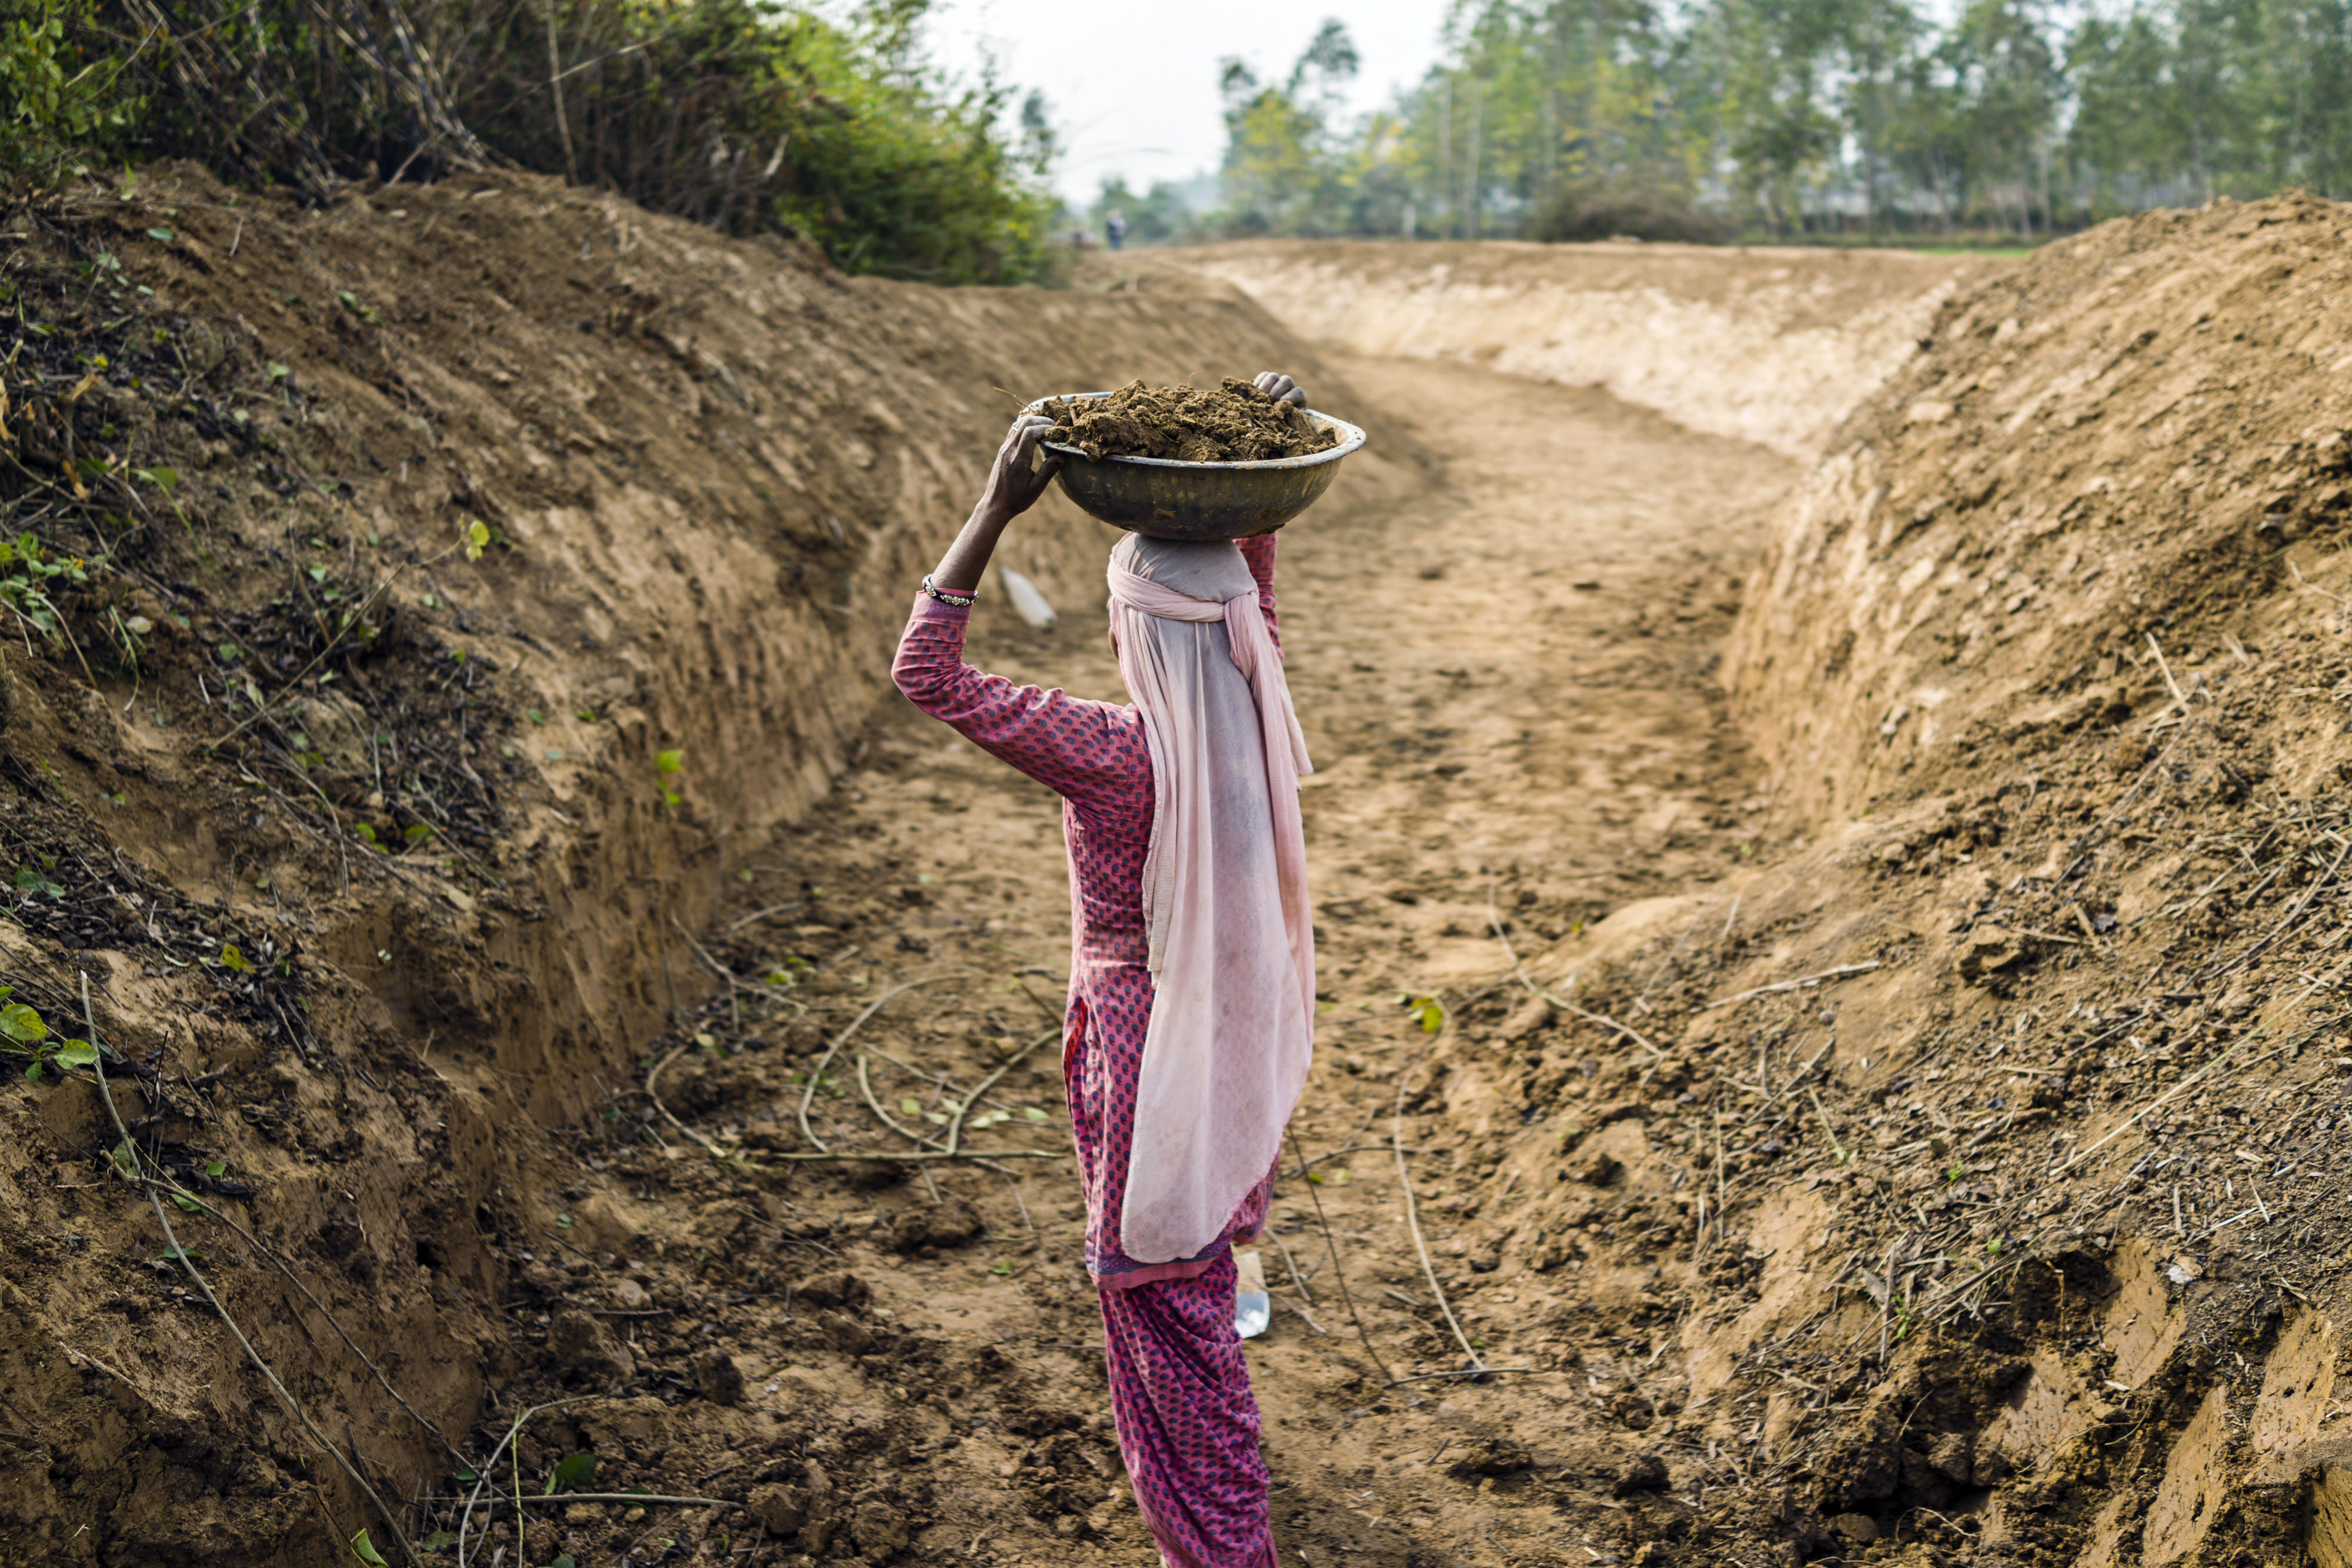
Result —
[[1042, 110], [917, 54], [924, 0], [0, 0], [0, 165], [191, 158], [318, 197], [517, 165], [835, 266], [1047, 270]]

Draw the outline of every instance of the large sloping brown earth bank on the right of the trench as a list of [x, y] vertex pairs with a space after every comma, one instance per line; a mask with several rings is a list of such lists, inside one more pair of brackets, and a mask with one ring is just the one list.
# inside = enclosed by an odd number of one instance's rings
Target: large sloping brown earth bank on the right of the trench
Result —
[[1945, 306], [1750, 576], [1762, 870], [1461, 1009], [1468, 1253], [1653, 1272], [1708, 1561], [2343, 1561], [2347, 299], [2281, 197]]

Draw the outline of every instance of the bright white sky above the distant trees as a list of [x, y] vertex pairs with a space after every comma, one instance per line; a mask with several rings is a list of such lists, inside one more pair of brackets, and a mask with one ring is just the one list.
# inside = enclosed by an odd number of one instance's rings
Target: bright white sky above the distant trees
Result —
[[1042, 87], [1068, 139], [1058, 186], [1094, 200], [1110, 174], [1141, 190], [1155, 179], [1216, 169], [1225, 148], [1216, 73], [1228, 54], [1261, 78], [1282, 75], [1338, 16], [1364, 61], [1355, 108], [1385, 103], [1437, 61], [1449, 0], [938, 0], [931, 38], [941, 63]]

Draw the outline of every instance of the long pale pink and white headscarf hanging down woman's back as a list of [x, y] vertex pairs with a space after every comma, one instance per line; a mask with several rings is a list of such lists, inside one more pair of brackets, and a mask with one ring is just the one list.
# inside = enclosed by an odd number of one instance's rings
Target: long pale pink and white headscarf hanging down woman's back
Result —
[[1197, 1258], [1265, 1180], [1308, 1081], [1312, 771], [1258, 588], [1230, 543], [1129, 534], [1110, 635], [1152, 757], [1143, 926], [1155, 983], [1120, 1251]]

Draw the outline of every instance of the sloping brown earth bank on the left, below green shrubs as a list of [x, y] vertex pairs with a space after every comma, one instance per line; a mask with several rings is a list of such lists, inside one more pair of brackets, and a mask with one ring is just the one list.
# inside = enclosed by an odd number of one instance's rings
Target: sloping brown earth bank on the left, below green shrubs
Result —
[[[1009, 411], [1322, 367], [1230, 301], [851, 284], [529, 179], [151, 169], [5, 233], [0, 1556], [400, 1561], [111, 1185], [80, 976], [136, 1168], [245, 1227], [172, 1211], [230, 1314], [433, 1497], [513, 1415], [543, 1128], [715, 985], [680, 931], [795, 896], [769, 837]], [[1054, 503], [1014, 562], [1101, 548]]]

